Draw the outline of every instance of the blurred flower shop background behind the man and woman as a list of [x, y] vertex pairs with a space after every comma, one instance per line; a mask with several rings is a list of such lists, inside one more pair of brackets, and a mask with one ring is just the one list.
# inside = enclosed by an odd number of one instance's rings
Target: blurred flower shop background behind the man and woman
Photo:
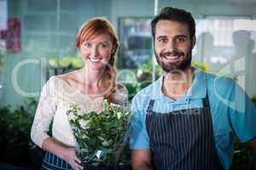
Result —
[[[130, 99], [156, 80], [150, 21], [165, 6], [195, 17], [193, 65], [233, 78], [255, 101], [255, 0], [0, 0], [0, 162], [30, 169], [40, 163], [29, 133], [41, 88], [83, 66], [74, 40], [91, 17], [108, 18], [118, 31], [118, 81]], [[250, 162], [247, 144], [236, 143], [232, 168]]]

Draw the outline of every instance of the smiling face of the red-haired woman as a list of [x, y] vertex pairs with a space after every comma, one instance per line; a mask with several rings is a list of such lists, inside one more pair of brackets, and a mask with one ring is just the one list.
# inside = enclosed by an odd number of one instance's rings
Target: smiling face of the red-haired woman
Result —
[[108, 65], [113, 42], [108, 33], [103, 33], [93, 39], [82, 42], [80, 50], [84, 65], [90, 69], [100, 70]]

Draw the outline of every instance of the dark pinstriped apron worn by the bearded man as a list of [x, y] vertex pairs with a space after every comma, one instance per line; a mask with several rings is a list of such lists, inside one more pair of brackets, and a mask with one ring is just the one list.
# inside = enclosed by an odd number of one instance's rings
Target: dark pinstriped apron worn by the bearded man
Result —
[[157, 170], [221, 170], [215, 147], [208, 95], [203, 107], [146, 115], [152, 163]]

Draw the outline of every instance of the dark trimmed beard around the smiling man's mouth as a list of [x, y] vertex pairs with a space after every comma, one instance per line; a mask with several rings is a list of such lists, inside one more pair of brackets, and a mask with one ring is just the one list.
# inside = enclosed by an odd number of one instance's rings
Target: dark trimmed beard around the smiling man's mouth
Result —
[[[177, 53], [177, 52], [174, 52]], [[168, 64], [168, 63], [164, 63], [163, 58], [165, 54], [160, 54], [157, 55], [155, 50], [154, 50], [154, 54], [155, 54], [155, 58], [157, 63], [162, 67], [162, 69], [166, 72], [172, 72], [172, 71], [185, 71], [189, 65], [191, 65], [191, 60], [192, 60], [192, 49], [190, 49], [189, 54], [187, 56], [184, 57], [183, 61], [180, 64], [176, 64], [176, 63], [172, 63], [172, 64]], [[177, 53], [179, 54], [179, 53]], [[183, 54], [183, 53], [181, 53]], [[184, 54], [183, 54], [184, 56]]]

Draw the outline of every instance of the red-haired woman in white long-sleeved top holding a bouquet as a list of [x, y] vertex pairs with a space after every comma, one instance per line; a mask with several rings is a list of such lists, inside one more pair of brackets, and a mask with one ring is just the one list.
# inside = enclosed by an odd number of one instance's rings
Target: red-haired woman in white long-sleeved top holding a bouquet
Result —
[[[83, 169], [67, 119], [69, 105], [75, 103], [85, 112], [99, 112], [103, 99], [119, 105], [127, 101], [127, 90], [115, 83], [113, 63], [118, 45], [118, 37], [108, 20], [88, 20], [76, 37], [84, 67], [50, 77], [44, 85], [31, 132], [32, 141], [47, 151], [42, 169]], [[49, 137], [52, 120], [52, 137]]]

